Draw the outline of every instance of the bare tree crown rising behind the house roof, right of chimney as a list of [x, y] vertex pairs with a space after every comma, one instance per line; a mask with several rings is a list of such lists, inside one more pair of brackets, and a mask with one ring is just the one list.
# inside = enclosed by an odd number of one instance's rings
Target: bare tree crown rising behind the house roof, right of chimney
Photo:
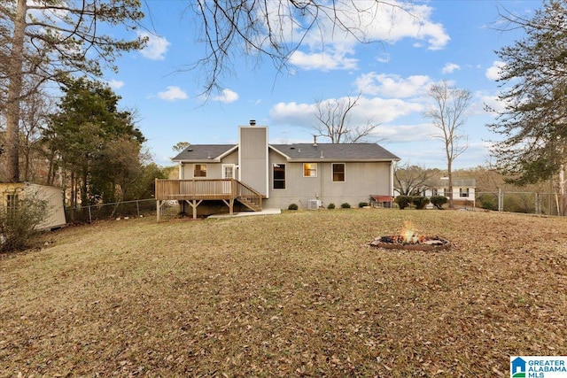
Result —
[[[315, 118], [318, 123], [314, 126], [316, 135], [329, 138], [330, 143], [357, 143], [368, 139], [379, 124], [371, 119], [358, 125], [352, 121], [353, 109], [360, 99], [361, 94], [317, 101]], [[378, 142], [377, 138], [374, 140]]]

